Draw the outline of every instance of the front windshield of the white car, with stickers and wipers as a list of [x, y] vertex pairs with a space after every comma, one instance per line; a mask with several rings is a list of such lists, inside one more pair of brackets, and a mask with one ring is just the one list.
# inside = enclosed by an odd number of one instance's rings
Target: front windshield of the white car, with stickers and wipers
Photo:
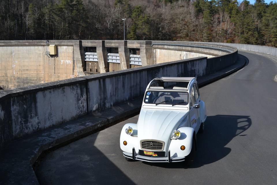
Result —
[[167, 105], [187, 105], [188, 92], [184, 91], [157, 91], [149, 90], [144, 97], [144, 103], [167, 104]]

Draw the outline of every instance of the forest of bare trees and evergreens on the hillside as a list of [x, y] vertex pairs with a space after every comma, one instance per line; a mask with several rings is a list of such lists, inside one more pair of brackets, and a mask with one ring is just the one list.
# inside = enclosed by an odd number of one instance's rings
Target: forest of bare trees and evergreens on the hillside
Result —
[[277, 3], [1, 0], [0, 40], [186, 40], [277, 47]]

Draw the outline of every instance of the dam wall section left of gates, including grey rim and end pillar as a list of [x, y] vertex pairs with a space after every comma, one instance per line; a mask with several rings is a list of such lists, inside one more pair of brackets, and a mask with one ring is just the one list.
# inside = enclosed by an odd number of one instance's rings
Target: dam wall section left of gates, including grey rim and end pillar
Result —
[[[57, 54], [47, 56], [49, 45]], [[0, 87], [11, 89], [83, 75], [79, 41], [0, 41]]]

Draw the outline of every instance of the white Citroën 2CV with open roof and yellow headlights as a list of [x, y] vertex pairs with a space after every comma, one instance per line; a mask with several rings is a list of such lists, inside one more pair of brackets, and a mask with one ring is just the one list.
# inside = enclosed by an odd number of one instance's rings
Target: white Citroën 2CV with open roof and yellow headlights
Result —
[[206, 117], [196, 78], [155, 78], [146, 88], [138, 122], [123, 126], [120, 148], [127, 161], [190, 165]]

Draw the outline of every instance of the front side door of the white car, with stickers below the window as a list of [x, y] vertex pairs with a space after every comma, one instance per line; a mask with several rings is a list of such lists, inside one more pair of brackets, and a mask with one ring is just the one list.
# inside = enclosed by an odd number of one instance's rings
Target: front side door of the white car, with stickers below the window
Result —
[[194, 97], [194, 88], [191, 86], [190, 88], [190, 126], [194, 128], [195, 132], [197, 133], [200, 127], [200, 120], [197, 112], [197, 108], [193, 108], [192, 106], [195, 104], [195, 97]]

